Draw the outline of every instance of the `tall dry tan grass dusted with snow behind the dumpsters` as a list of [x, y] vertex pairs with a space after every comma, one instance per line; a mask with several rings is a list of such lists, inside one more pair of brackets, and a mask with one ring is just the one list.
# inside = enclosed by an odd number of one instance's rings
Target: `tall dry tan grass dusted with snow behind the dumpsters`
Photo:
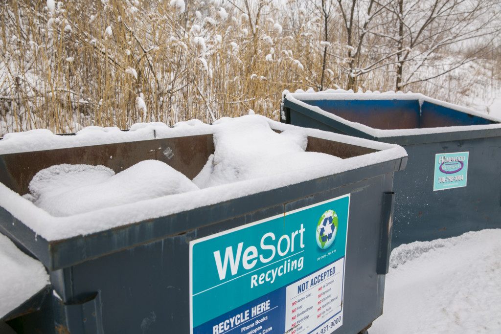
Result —
[[[334, 56], [343, 53], [346, 36], [335, 16], [323, 71], [323, 22], [312, 8], [299, 0], [280, 8], [264, 0], [239, 4], [5, 2], [0, 136], [35, 128], [71, 133], [90, 125], [212, 122], [250, 110], [278, 120], [286, 89], [346, 87], [346, 60]], [[358, 85], [393, 89], [394, 70], [368, 73]]]

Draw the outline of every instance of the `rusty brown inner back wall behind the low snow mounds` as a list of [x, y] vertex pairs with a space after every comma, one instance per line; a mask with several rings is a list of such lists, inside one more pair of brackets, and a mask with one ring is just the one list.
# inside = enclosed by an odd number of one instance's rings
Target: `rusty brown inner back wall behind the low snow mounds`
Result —
[[198, 135], [0, 155], [0, 182], [17, 193], [40, 170], [59, 164], [103, 165], [115, 173], [143, 160], [160, 160], [195, 177], [214, 152], [212, 135]]

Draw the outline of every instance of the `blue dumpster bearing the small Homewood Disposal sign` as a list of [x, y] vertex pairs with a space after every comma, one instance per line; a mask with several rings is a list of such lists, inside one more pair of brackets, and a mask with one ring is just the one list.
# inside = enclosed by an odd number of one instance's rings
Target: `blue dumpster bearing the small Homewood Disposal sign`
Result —
[[[287, 93], [287, 92], [286, 92]], [[392, 247], [501, 227], [501, 123], [421, 94], [288, 93], [282, 122], [404, 147]]]

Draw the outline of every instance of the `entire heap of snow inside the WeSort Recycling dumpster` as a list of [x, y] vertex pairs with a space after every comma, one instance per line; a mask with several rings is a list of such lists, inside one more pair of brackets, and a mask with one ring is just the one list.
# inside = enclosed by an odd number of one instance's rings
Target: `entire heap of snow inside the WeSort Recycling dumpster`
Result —
[[277, 133], [264, 120], [237, 123], [214, 134], [215, 153], [193, 182], [157, 160], [141, 161], [116, 175], [105, 166], [62, 164], [38, 172], [25, 198], [54, 216], [70, 216], [340, 160], [305, 152], [307, 143], [301, 129]]

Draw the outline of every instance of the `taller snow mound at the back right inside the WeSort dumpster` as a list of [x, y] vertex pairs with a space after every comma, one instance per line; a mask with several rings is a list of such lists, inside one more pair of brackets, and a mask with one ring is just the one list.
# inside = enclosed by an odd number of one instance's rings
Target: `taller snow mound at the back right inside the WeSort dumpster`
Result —
[[324, 153], [305, 152], [308, 138], [300, 129], [277, 133], [270, 128], [268, 122], [259, 118], [254, 122], [224, 121], [233, 124], [214, 133], [214, 154], [193, 179], [200, 188], [257, 179], [341, 160]]

